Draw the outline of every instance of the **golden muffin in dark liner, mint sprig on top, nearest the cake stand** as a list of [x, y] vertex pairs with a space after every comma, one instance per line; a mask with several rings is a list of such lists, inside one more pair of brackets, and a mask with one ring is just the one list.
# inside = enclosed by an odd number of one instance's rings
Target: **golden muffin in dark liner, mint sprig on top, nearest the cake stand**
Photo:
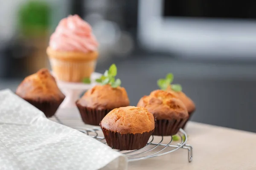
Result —
[[84, 123], [99, 126], [99, 122], [114, 108], [130, 105], [123, 87], [96, 85], [76, 102]]

